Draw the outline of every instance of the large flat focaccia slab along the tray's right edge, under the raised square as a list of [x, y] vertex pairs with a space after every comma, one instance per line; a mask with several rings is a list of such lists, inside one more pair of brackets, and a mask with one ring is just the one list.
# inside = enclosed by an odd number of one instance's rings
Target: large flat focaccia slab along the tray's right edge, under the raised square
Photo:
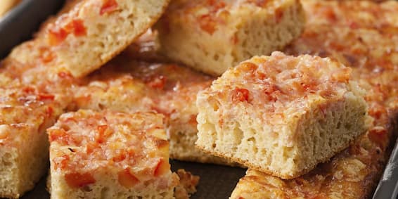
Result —
[[292, 180], [248, 170], [231, 198], [371, 198], [398, 132], [397, 1], [302, 1], [307, 27], [286, 53], [352, 66], [366, 90], [370, 128], [352, 146]]

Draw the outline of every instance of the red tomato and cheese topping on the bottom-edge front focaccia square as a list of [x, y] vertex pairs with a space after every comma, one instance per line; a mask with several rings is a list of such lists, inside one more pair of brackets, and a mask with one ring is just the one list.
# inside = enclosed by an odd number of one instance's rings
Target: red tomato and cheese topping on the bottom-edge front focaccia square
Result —
[[99, 168], [119, 171], [123, 186], [169, 174], [169, 143], [162, 120], [154, 113], [65, 113], [48, 130], [52, 168], [63, 171], [70, 186], [86, 185], [72, 176], [94, 179]]

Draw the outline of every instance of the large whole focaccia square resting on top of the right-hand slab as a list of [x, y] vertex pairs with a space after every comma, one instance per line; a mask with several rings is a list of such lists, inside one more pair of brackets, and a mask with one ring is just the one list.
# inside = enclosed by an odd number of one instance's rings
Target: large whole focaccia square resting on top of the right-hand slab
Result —
[[351, 69], [316, 56], [255, 57], [198, 94], [199, 148], [282, 179], [326, 162], [367, 127]]

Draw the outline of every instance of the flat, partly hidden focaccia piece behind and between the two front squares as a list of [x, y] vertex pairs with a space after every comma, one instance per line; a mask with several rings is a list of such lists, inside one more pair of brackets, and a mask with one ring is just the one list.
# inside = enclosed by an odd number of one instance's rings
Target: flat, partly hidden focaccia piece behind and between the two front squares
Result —
[[198, 133], [196, 94], [210, 86], [212, 80], [190, 68], [137, 62], [123, 54], [76, 86], [72, 91], [73, 106], [75, 109], [162, 113], [167, 119], [170, 158], [231, 164], [195, 148]]

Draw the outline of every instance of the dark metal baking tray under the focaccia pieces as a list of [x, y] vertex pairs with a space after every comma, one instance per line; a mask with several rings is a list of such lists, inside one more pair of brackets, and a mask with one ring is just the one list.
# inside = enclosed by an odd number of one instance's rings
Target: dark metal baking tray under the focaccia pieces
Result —
[[[1, 0], [0, 0], [1, 1]], [[63, 0], [25, 0], [4, 18], [0, 19], [0, 58], [4, 58], [13, 46], [30, 39], [39, 24], [56, 13], [63, 5]], [[184, 168], [200, 176], [198, 192], [191, 198], [218, 199], [228, 198], [238, 180], [245, 175], [245, 169], [225, 167], [220, 165], [200, 164], [172, 160], [172, 170]], [[394, 199], [398, 194], [398, 146], [394, 147], [392, 155], [380, 179], [374, 199]], [[47, 199], [46, 177], [26, 193], [22, 198]]]

